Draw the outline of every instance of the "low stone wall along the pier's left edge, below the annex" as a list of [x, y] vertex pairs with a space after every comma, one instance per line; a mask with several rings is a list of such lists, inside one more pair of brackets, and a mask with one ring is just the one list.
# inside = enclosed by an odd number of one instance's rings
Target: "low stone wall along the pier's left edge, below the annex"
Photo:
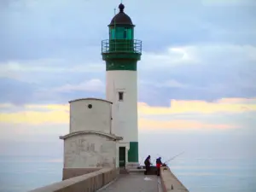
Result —
[[33, 189], [30, 192], [91, 192], [101, 189], [116, 177], [117, 172], [115, 168], [103, 168], [96, 172], [90, 172], [79, 177], [69, 178], [42, 188]]

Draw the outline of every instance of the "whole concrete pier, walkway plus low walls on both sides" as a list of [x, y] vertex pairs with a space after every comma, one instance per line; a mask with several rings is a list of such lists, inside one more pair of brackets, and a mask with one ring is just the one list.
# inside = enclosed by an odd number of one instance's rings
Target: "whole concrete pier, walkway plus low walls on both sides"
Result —
[[161, 167], [160, 177], [143, 170], [119, 174], [115, 168], [102, 168], [78, 177], [33, 189], [31, 192], [188, 192], [169, 167]]

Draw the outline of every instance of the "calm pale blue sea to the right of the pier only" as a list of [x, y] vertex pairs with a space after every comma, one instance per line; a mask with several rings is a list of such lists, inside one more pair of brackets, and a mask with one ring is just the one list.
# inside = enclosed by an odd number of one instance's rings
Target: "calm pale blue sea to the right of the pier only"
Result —
[[170, 167], [190, 192], [256, 192], [256, 160], [178, 160]]

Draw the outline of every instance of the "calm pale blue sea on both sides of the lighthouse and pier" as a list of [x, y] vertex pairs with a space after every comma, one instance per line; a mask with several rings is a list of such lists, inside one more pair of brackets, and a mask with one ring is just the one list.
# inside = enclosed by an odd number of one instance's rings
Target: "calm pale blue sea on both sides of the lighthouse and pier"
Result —
[[[254, 160], [173, 160], [171, 169], [190, 192], [255, 192]], [[0, 192], [26, 192], [61, 181], [62, 162], [46, 157], [1, 157]]]

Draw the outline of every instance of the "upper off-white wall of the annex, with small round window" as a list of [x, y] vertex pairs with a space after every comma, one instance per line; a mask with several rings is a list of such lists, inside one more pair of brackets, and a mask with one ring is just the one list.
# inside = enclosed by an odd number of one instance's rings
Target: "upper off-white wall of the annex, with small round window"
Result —
[[[92, 108], [88, 108], [91, 104]], [[110, 133], [111, 103], [86, 99], [70, 102], [70, 133], [102, 131]]]

